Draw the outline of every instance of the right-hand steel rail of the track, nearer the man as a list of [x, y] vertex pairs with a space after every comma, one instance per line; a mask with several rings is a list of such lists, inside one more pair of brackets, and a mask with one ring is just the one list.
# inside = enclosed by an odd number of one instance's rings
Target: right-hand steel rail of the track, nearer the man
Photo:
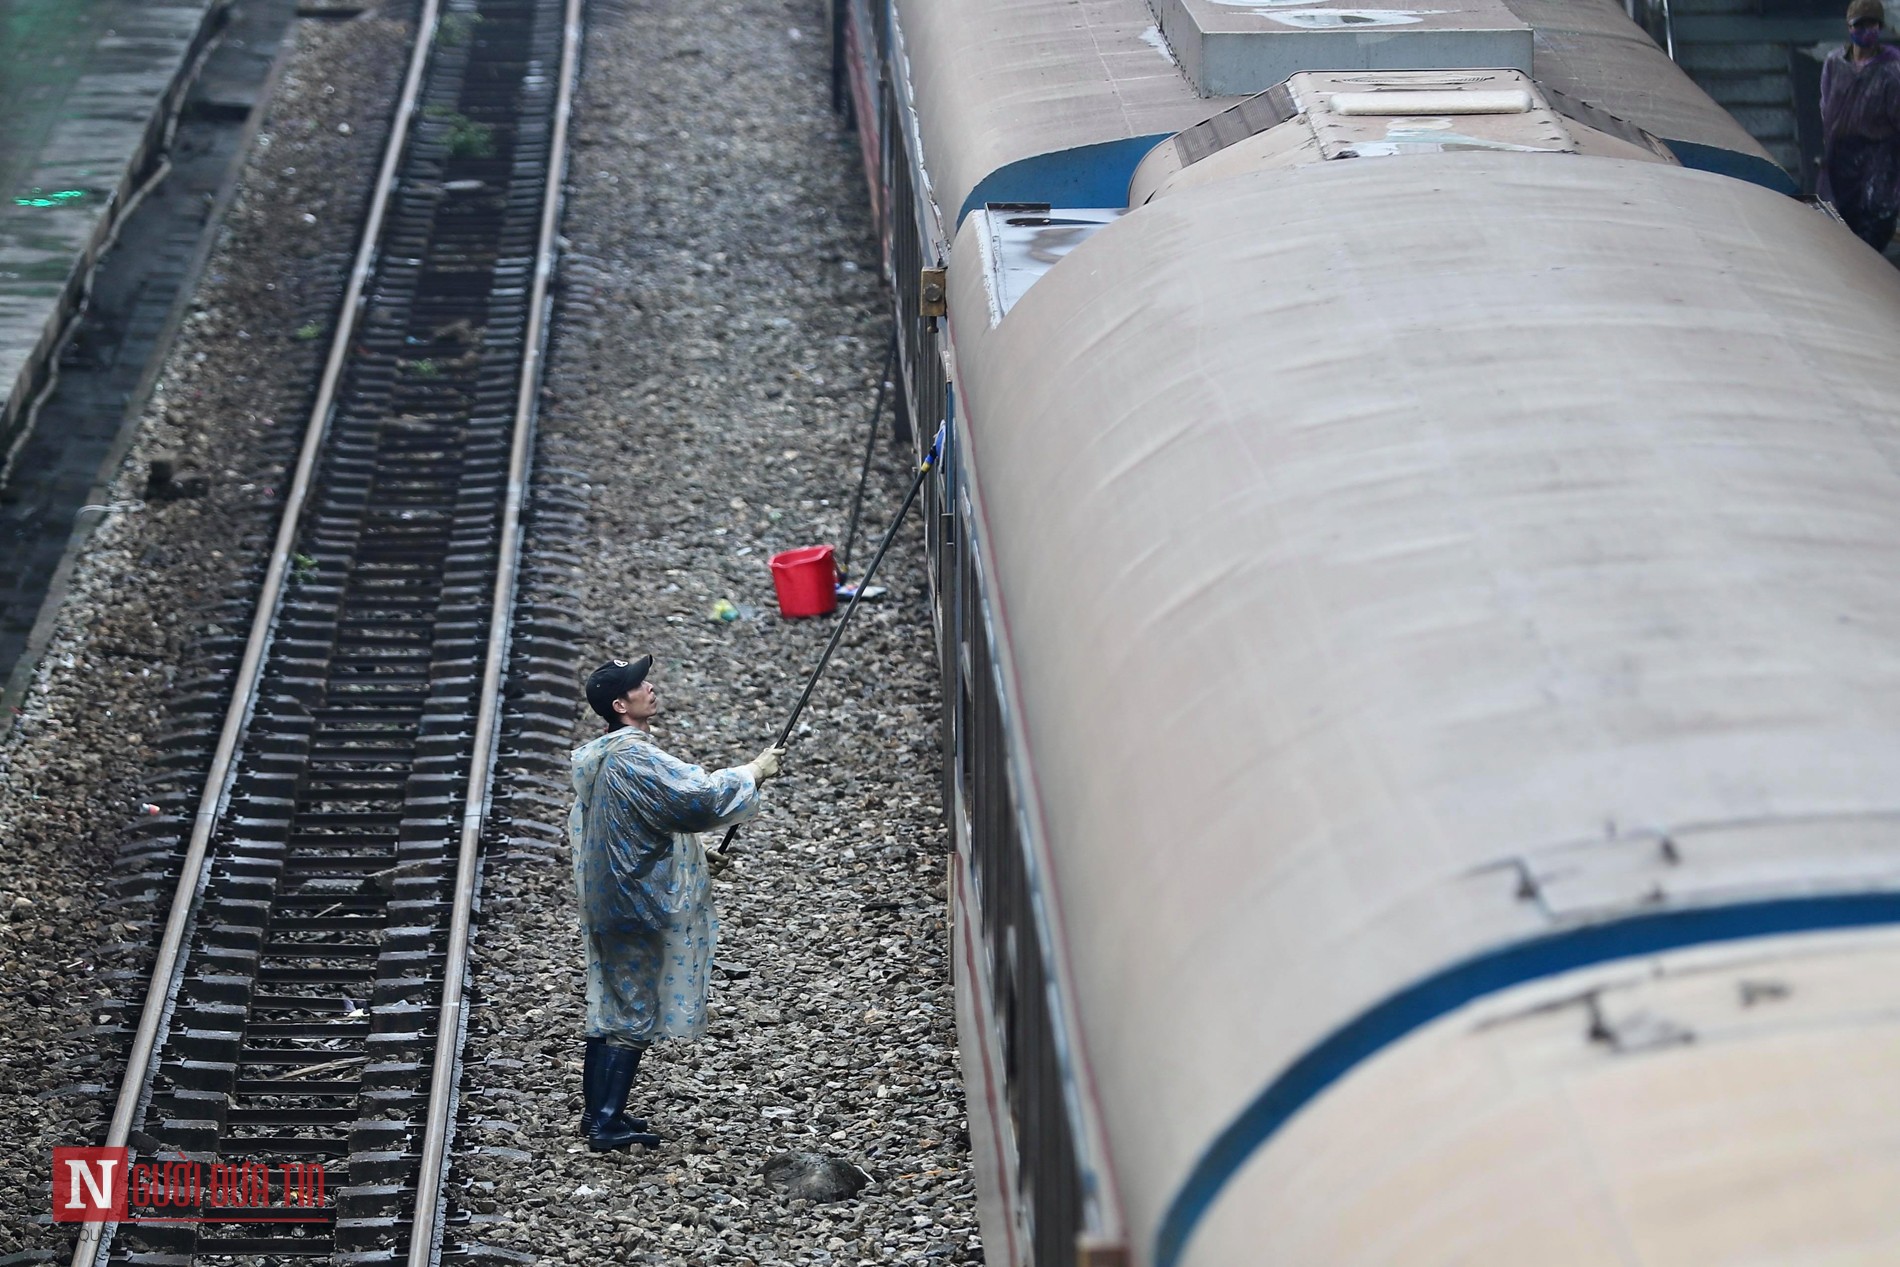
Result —
[[467, 794], [462, 807], [462, 843], [456, 855], [454, 910], [448, 919], [448, 954], [443, 967], [443, 1005], [435, 1026], [435, 1062], [429, 1073], [429, 1106], [424, 1119], [422, 1166], [416, 1172], [416, 1212], [408, 1231], [408, 1267], [431, 1267], [441, 1258], [443, 1191], [448, 1144], [454, 1136], [456, 1077], [462, 1035], [467, 1028], [464, 976], [469, 967], [469, 921], [481, 879], [481, 832], [488, 813], [488, 783], [500, 743], [502, 678], [507, 671], [515, 587], [521, 574], [521, 511], [528, 498], [528, 465], [534, 456], [536, 401], [547, 342], [549, 281], [560, 230], [560, 198], [566, 182], [568, 118], [580, 74], [581, 0], [568, 0], [560, 34], [560, 78], [555, 89], [553, 135], [547, 146], [547, 190], [542, 196], [542, 232], [534, 247], [534, 283], [528, 291], [528, 327], [522, 336], [521, 386], [515, 393], [515, 433], [507, 460], [507, 500], [502, 505], [500, 560], [488, 615], [488, 652], [483, 665], [475, 714], [475, 745]]

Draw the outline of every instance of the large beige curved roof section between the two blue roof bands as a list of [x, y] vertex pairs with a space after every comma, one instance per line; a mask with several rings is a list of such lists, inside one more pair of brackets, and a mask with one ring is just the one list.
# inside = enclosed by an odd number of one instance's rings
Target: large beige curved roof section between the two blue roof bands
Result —
[[1393, 999], [1900, 919], [1900, 277], [1837, 222], [1326, 161], [1127, 213], [1001, 317], [977, 230], [963, 469], [1140, 1244], [1246, 1201]]

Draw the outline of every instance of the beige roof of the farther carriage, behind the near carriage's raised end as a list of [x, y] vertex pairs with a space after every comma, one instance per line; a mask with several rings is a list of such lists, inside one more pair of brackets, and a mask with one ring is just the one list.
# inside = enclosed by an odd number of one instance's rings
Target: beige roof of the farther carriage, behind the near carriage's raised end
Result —
[[[1531, 27], [1539, 82], [1664, 141], [1773, 169], [1615, 0], [1505, 2]], [[1125, 188], [1150, 144], [1239, 101], [1197, 93], [1146, 0], [895, 0], [895, 11], [923, 165], [952, 236], [984, 199], [1064, 199], [1047, 171], [994, 180], [1011, 165], [1079, 152], [1083, 179]]]

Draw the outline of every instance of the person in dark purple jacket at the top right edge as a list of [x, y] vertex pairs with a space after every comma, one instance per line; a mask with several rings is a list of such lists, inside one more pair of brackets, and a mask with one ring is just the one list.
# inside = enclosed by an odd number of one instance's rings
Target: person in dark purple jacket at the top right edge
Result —
[[1885, 251], [1900, 218], [1900, 51], [1881, 44], [1881, 0], [1847, 6], [1847, 46], [1820, 68], [1820, 196]]

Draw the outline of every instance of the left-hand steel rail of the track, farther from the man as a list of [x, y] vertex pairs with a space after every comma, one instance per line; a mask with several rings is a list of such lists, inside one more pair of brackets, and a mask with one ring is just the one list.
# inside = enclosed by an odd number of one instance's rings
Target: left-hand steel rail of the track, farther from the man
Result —
[[[232, 701], [224, 710], [224, 728], [213, 750], [211, 769], [205, 775], [205, 790], [192, 817], [192, 838], [179, 866], [179, 887], [171, 898], [171, 914], [165, 919], [165, 933], [160, 938], [158, 957], [152, 961], [152, 982], [148, 986], [144, 1009], [139, 1014], [139, 1030], [133, 1035], [131, 1052], [125, 1058], [125, 1077], [120, 1083], [118, 1104], [112, 1109], [112, 1125], [106, 1128], [106, 1147], [127, 1147], [131, 1125], [137, 1119], [146, 1090], [152, 1081], [160, 1052], [160, 1031], [171, 1022], [177, 1001], [179, 971], [182, 967], [180, 950], [192, 929], [192, 912], [205, 887], [205, 855], [211, 845], [211, 832], [217, 828], [230, 800], [232, 777], [236, 775], [238, 741], [245, 731], [251, 709], [256, 703], [256, 688], [264, 663], [264, 650], [270, 646], [272, 627], [277, 621], [277, 606], [283, 598], [285, 574], [289, 572], [291, 545], [302, 520], [304, 501], [310, 496], [312, 473], [329, 429], [331, 410], [336, 405], [336, 386], [342, 380], [350, 344], [355, 338], [357, 315], [363, 300], [363, 287], [376, 262], [376, 243], [382, 236], [382, 220], [390, 207], [390, 194], [395, 186], [395, 169], [408, 141], [408, 125], [416, 114], [416, 99], [422, 95], [422, 76], [429, 63], [429, 49], [435, 42], [435, 19], [439, 0], [422, 0], [416, 17], [416, 47], [408, 59], [408, 72], [403, 80], [403, 93], [390, 118], [390, 141], [384, 148], [382, 167], [370, 192], [369, 215], [363, 222], [363, 237], [357, 247], [355, 264], [350, 270], [350, 283], [344, 289], [342, 306], [336, 315], [336, 336], [331, 340], [331, 353], [317, 384], [317, 399], [310, 410], [310, 424], [304, 429], [304, 446], [296, 458], [296, 471], [283, 500], [283, 517], [277, 520], [277, 538], [272, 543], [270, 564], [258, 591], [256, 615], [251, 621], [251, 636], [245, 642], [243, 659], [232, 684]], [[129, 1157], [129, 1155], [127, 1155]], [[93, 1267], [112, 1242], [118, 1223], [84, 1223], [78, 1244], [72, 1250], [72, 1267]]]

